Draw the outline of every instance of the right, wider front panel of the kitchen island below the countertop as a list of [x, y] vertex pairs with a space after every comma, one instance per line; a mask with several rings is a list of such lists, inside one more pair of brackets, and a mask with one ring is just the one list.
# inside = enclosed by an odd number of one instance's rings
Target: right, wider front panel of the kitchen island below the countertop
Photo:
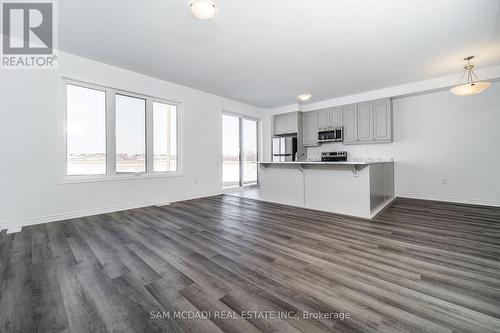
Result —
[[370, 167], [306, 166], [305, 206], [338, 214], [370, 218]]

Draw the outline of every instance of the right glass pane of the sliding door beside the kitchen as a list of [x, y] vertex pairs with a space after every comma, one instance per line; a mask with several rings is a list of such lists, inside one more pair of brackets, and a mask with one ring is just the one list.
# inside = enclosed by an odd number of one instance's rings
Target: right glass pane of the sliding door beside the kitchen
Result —
[[257, 184], [257, 122], [242, 120], [243, 185]]

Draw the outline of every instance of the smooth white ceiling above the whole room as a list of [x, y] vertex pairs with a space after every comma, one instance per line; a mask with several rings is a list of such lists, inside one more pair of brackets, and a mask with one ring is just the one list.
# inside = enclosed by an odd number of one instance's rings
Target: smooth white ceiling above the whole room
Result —
[[[59, 1], [63, 51], [261, 107], [500, 64], [498, 0]], [[457, 78], [458, 80], [458, 78]]]

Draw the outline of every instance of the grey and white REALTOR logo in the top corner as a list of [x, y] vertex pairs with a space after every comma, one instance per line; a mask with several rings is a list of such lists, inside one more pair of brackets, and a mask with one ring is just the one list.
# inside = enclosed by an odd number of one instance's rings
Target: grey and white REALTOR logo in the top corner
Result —
[[54, 3], [2, 3], [2, 67], [54, 68]]

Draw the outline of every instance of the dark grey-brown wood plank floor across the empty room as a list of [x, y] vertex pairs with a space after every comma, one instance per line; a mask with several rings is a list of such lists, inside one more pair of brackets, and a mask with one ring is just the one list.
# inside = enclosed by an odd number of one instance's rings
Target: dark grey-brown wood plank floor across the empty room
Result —
[[0, 332], [500, 332], [499, 257], [499, 208], [210, 197], [3, 232]]

